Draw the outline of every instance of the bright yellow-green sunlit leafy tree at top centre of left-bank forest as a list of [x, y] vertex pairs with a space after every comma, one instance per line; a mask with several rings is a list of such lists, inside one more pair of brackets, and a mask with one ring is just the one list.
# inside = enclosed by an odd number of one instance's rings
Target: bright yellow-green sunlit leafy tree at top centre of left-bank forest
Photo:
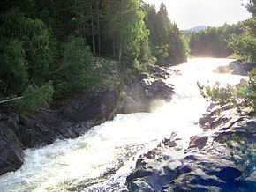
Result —
[[113, 57], [129, 62], [139, 57], [141, 45], [145, 45], [148, 36], [144, 17], [138, 0], [114, 0], [109, 3], [103, 30], [107, 34], [105, 41], [112, 47]]

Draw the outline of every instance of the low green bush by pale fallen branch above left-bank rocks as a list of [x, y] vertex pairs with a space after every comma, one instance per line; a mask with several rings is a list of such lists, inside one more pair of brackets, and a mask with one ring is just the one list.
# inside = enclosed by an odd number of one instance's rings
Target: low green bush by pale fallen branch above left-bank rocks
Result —
[[39, 88], [29, 85], [23, 93], [23, 98], [15, 101], [14, 110], [19, 114], [32, 114], [46, 102], [49, 102], [53, 93], [54, 90], [51, 83], [42, 85]]

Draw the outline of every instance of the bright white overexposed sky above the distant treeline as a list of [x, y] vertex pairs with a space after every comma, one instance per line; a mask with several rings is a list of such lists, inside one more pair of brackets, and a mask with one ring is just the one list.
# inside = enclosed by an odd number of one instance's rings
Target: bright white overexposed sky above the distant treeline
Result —
[[250, 18], [242, 0], [144, 0], [157, 8], [163, 2], [169, 18], [184, 30], [194, 26], [222, 26]]

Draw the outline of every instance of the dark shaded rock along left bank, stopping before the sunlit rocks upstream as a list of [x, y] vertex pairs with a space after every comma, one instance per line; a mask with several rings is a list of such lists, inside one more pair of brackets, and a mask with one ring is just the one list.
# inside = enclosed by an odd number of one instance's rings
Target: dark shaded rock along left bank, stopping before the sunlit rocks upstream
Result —
[[23, 149], [52, 144], [56, 139], [75, 138], [88, 129], [112, 120], [122, 104], [121, 89], [98, 87], [57, 111], [40, 111], [29, 117], [2, 114], [0, 120], [0, 174], [18, 169]]

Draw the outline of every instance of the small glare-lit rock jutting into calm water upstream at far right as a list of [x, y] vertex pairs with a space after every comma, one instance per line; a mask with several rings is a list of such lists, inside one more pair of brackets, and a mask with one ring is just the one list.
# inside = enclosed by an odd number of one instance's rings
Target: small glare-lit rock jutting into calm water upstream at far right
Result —
[[242, 60], [231, 62], [227, 66], [220, 66], [215, 69], [218, 73], [230, 73], [232, 75], [248, 76], [248, 72], [256, 67], [256, 63], [244, 63]]

